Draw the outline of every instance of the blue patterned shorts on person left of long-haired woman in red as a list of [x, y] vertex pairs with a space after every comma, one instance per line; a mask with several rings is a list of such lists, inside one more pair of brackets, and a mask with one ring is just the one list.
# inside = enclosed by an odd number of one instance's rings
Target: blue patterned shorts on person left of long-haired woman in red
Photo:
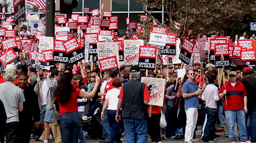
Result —
[[54, 109], [46, 109], [46, 105], [42, 105], [40, 112], [40, 124], [44, 124], [44, 122], [53, 123], [54, 122], [55, 112]]

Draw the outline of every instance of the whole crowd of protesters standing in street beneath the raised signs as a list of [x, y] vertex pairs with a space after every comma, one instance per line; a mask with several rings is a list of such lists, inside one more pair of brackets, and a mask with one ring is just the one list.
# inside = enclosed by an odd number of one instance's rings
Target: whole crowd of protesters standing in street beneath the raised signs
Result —
[[[22, 53], [20, 61], [24, 63]], [[177, 78], [179, 65], [159, 66], [148, 73], [138, 66], [121, 66], [119, 71], [100, 73], [98, 67], [90, 70], [80, 62], [39, 70], [28, 69], [26, 63], [19, 69], [9, 64], [0, 78], [1, 142], [30, 142], [31, 134], [44, 142], [86, 142], [81, 117], [98, 102], [103, 105], [100, 142], [124, 141], [122, 128], [126, 142], [145, 142], [148, 135], [153, 142], [165, 138], [215, 142], [220, 136], [215, 133], [217, 123], [231, 143], [238, 138], [256, 141], [255, 72], [249, 67], [243, 72], [226, 70], [225, 83], [218, 86], [215, 65], [202, 64], [194, 63], [183, 78]], [[151, 117], [150, 89], [140, 82], [145, 76], [166, 79], [164, 107], [154, 106]], [[160, 127], [161, 112], [166, 116], [165, 129]], [[196, 138], [199, 120], [202, 134]]]

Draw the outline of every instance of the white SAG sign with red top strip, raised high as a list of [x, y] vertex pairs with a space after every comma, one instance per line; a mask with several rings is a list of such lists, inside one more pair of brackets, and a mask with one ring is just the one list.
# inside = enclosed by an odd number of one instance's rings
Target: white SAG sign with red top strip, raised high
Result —
[[168, 29], [151, 27], [150, 44], [165, 46]]

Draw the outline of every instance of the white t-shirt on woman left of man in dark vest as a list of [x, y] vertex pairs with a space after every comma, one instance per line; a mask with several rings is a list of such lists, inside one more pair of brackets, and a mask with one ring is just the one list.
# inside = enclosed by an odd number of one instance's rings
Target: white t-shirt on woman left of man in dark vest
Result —
[[106, 92], [106, 99], [109, 100], [108, 110], [117, 110], [117, 104], [119, 101], [120, 89], [113, 88]]

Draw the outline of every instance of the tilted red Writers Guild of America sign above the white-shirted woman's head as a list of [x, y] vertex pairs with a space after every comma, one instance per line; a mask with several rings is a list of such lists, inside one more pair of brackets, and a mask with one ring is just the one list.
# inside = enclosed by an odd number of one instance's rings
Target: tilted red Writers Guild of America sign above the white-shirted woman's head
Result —
[[116, 56], [99, 59], [99, 68], [100, 71], [104, 71], [106, 69], [118, 68], [118, 62]]

